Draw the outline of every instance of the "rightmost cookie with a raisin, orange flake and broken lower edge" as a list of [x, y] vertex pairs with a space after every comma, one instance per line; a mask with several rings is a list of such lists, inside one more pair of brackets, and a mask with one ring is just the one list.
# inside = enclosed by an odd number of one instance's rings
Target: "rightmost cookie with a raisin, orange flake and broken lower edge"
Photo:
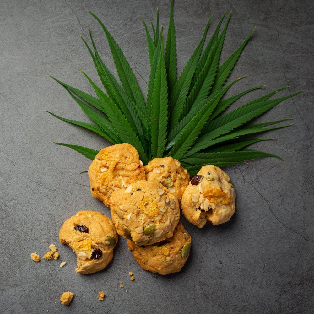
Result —
[[213, 225], [229, 221], [236, 209], [236, 192], [229, 176], [213, 165], [204, 166], [194, 176], [182, 196], [182, 213], [198, 228], [206, 221]]

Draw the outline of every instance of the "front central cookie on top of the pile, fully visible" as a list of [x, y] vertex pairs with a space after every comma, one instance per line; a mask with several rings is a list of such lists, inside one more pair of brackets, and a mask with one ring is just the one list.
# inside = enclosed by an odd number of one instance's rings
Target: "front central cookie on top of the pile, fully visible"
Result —
[[117, 232], [139, 245], [171, 238], [180, 219], [177, 198], [157, 181], [141, 180], [111, 194]]

